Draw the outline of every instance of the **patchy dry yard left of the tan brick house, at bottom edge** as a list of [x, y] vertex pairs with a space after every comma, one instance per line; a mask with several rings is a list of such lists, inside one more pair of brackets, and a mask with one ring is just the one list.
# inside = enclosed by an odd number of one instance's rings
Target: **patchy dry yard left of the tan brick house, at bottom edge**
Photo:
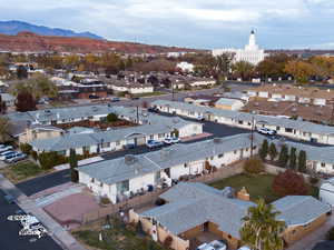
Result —
[[[135, 227], [124, 224], [118, 219], [111, 219], [111, 228], [104, 229], [104, 223], [97, 222], [84, 226], [72, 231], [72, 234], [89, 249], [101, 250], [168, 250], [154, 242], [148, 236], [138, 236]], [[99, 240], [101, 232], [102, 241]]]

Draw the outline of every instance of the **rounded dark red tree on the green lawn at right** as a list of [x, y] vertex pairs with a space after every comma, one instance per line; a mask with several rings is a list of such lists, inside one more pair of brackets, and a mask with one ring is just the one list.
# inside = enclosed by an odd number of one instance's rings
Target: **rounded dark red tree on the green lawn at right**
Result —
[[287, 169], [275, 177], [273, 190], [281, 197], [305, 196], [308, 193], [308, 187], [305, 183], [304, 177], [291, 169]]

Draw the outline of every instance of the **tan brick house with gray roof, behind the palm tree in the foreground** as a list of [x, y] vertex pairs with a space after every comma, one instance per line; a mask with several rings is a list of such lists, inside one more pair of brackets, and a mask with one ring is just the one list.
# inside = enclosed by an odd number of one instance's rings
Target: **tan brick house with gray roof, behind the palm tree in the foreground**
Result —
[[[214, 234], [235, 250], [242, 243], [243, 218], [256, 204], [243, 196], [226, 196], [224, 190], [198, 182], [180, 182], [160, 194], [165, 204], [139, 214], [131, 210], [130, 221], [140, 221], [144, 230], [157, 241], [164, 242], [170, 237], [170, 247], [175, 250], [188, 250], [190, 242], [204, 233]], [[288, 196], [272, 204], [281, 212], [276, 219], [286, 223], [282, 233], [286, 246], [322, 226], [331, 212], [328, 206], [307, 196]]]

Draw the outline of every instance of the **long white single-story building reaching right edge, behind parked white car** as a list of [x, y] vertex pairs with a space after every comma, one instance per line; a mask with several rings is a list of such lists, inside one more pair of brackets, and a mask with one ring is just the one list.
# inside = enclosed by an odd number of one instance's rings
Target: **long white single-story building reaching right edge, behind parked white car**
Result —
[[151, 103], [160, 111], [175, 113], [189, 118], [204, 117], [206, 120], [239, 127], [245, 129], [268, 128], [277, 131], [277, 134], [313, 141], [324, 144], [334, 144], [334, 127], [316, 124], [307, 121], [292, 120], [272, 116], [262, 116], [222, 110], [210, 107], [198, 107], [185, 102], [156, 100]]

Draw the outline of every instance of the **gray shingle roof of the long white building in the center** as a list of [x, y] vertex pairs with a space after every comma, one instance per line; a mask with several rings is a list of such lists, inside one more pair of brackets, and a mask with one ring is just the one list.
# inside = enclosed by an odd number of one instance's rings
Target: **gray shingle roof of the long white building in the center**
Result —
[[[254, 146], [259, 144], [262, 141], [263, 137], [256, 134], [254, 138]], [[136, 159], [135, 162], [138, 170], [137, 172], [134, 171], [131, 164], [127, 164], [125, 162], [125, 158], [87, 164], [80, 167], [78, 171], [87, 173], [91, 178], [96, 178], [105, 183], [112, 184], [118, 181], [143, 176], [143, 172], [147, 173], [148, 170], [156, 172], [160, 169], [170, 168], [190, 161], [203, 160], [205, 158], [224, 152], [230, 152], [236, 149], [249, 148], [249, 134], [242, 133], [224, 138], [220, 142], [207, 140], [189, 144], [179, 143], [158, 151], [134, 156]], [[102, 170], [100, 171], [100, 169]], [[114, 178], [115, 176], [117, 176], [116, 179]]]

